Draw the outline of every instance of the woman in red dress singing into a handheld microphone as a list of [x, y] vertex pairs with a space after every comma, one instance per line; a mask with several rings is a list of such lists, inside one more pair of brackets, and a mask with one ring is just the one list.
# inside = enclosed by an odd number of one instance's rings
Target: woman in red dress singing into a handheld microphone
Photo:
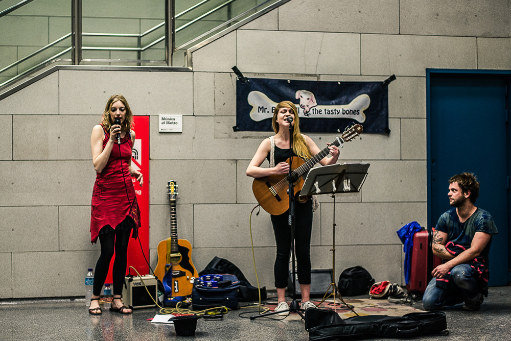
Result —
[[[115, 119], [121, 123], [115, 124]], [[142, 173], [131, 166], [131, 150], [135, 141], [132, 125], [133, 113], [128, 102], [122, 95], [112, 95], [106, 104], [101, 124], [92, 128], [90, 136], [92, 163], [96, 170], [90, 238], [95, 243], [99, 237], [101, 245], [89, 307], [92, 315], [102, 313], [99, 298], [114, 251], [113, 301], [110, 310], [122, 314], [131, 313], [131, 309], [122, 302], [129, 236], [133, 230], [132, 237], [136, 238], [140, 227], [140, 214], [131, 177], [136, 178], [141, 186], [143, 183]]]

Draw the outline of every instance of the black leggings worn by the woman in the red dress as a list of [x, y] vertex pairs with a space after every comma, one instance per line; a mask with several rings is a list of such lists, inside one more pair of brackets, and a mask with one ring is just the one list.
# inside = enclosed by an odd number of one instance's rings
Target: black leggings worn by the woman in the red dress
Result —
[[113, 295], [122, 295], [124, 286], [124, 277], [126, 276], [126, 266], [128, 264], [128, 241], [131, 230], [115, 229], [107, 233], [100, 233], [99, 241], [101, 245], [101, 255], [96, 263], [96, 272], [94, 273], [94, 288], [92, 293], [95, 296], [101, 295], [101, 289], [105, 284], [110, 260], [115, 251], [115, 260], [113, 261], [112, 281]]

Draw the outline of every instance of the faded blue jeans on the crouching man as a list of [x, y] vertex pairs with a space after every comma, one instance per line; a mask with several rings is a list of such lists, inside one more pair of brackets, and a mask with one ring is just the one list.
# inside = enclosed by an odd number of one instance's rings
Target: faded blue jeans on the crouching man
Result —
[[447, 289], [437, 287], [436, 278], [429, 282], [422, 302], [426, 310], [437, 310], [446, 305], [474, 301], [478, 296], [477, 273], [469, 264], [459, 264], [451, 270]]

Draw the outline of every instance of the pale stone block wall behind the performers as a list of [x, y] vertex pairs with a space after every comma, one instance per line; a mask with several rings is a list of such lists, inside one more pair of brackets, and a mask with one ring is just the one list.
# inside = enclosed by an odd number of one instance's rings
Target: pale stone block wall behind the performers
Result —
[[[404, 284], [396, 231], [427, 224], [426, 68], [508, 69], [507, 1], [292, 0], [193, 53], [190, 72], [60, 69], [0, 101], [0, 298], [83, 295], [99, 247], [89, 242], [95, 172], [90, 132], [113, 93], [150, 115], [150, 264], [170, 234], [166, 184], [179, 183], [179, 237], [200, 271], [214, 257], [255, 284], [245, 169], [271, 132], [233, 132], [237, 65], [246, 77], [389, 84], [388, 135], [363, 134], [339, 162], [369, 162], [359, 194], [336, 196], [336, 274], [362, 265]], [[2, 42], [0, 41], [0, 44]], [[0, 50], [0, 55], [10, 50]], [[1, 65], [0, 65], [1, 66]], [[183, 132], [158, 132], [182, 114]], [[334, 134], [310, 136], [318, 145]], [[332, 267], [333, 202], [314, 215], [312, 267]], [[273, 288], [269, 215], [252, 215], [259, 282]], [[43, 289], [38, 284], [44, 282]], [[62, 290], [65, 288], [65, 290]]]

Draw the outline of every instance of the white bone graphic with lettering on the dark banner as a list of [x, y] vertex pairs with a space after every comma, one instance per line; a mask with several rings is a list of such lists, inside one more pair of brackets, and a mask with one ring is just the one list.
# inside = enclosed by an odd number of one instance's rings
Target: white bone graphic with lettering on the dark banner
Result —
[[[260, 91], [250, 91], [247, 100], [252, 106], [250, 118], [256, 122], [271, 118], [273, 116], [273, 109], [277, 106], [277, 103], [270, 100], [267, 95]], [[370, 103], [371, 99], [369, 96], [363, 93], [358, 95], [350, 104], [317, 105], [307, 113], [299, 105], [296, 105], [296, 107], [300, 118], [350, 118], [363, 123], [365, 121], [364, 110], [369, 107]]]

